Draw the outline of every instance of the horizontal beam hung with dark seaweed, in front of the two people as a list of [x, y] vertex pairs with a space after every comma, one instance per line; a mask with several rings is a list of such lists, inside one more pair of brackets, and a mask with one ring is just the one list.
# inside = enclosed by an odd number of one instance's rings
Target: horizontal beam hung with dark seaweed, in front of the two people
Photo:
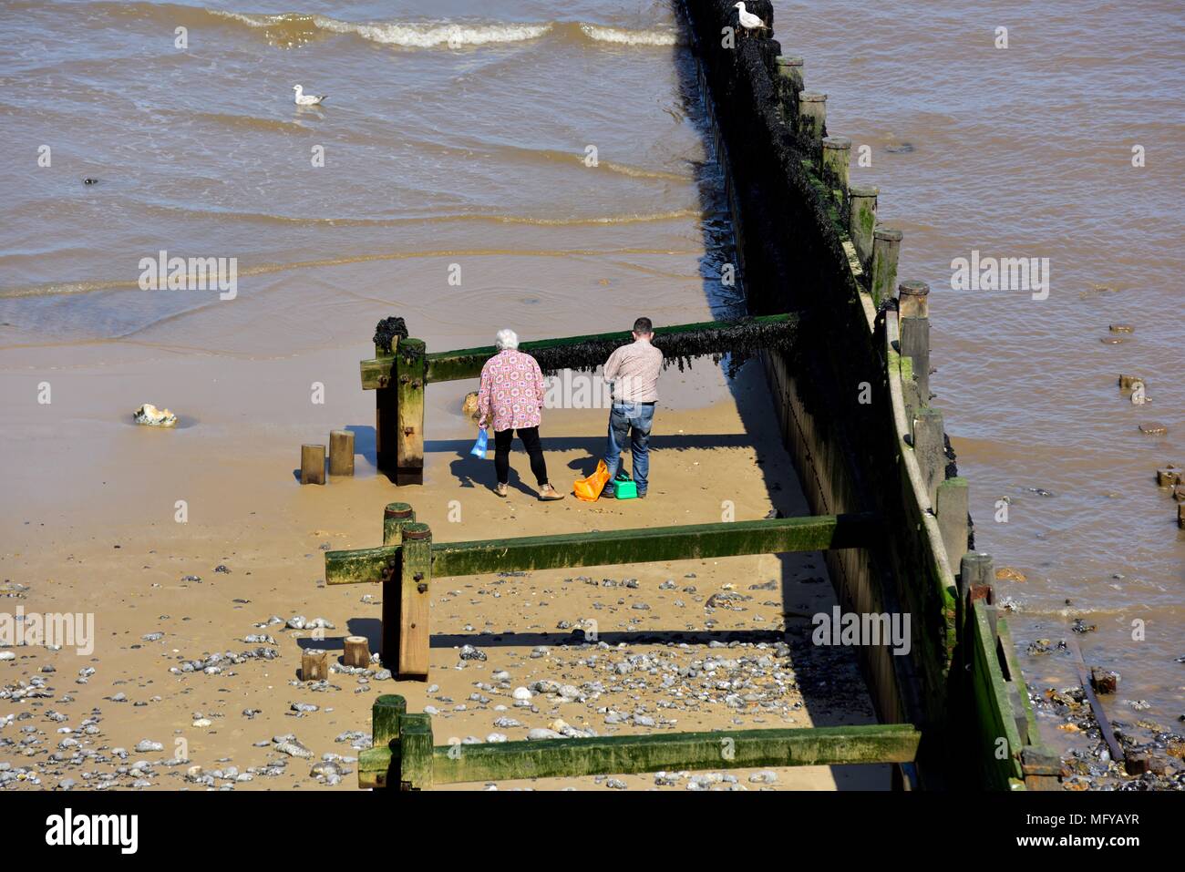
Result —
[[[729, 351], [729, 331], [742, 326], [751, 325], [777, 326], [784, 325], [787, 328], [796, 327], [799, 315], [795, 313], [782, 313], [780, 315], [762, 315], [747, 321], [703, 321], [699, 323], [673, 325], [671, 327], [656, 327], [654, 329], [654, 345], [662, 348], [662, 336], [671, 336], [678, 333], [696, 333], [710, 331], [717, 333], [720, 345], [717, 350], [707, 350], [705, 354]], [[614, 333], [594, 333], [583, 336], [562, 336], [559, 339], [539, 339], [531, 342], [520, 342], [519, 351], [527, 354], [543, 350], [563, 350], [565, 346], [584, 345], [588, 342], [606, 342], [609, 345], [626, 345], [633, 341], [629, 331]], [[481, 367], [489, 360], [498, 350], [494, 346], [482, 346], [480, 348], [459, 348], [456, 351], [433, 352], [427, 355], [428, 373], [427, 380], [454, 382], [463, 378], [478, 378]], [[608, 354], [606, 354], [608, 357]], [[370, 391], [384, 389], [393, 384], [392, 364], [393, 357], [376, 357], [371, 360], [361, 361], [363, 390]], [[562, 368], [562, 367], [561, 367]]]

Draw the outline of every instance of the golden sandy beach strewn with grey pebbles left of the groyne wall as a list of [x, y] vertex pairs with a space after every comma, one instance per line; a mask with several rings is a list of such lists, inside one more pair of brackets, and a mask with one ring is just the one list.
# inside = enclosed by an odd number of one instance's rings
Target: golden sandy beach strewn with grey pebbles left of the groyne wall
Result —
[[[249, 364], [171, 355], [115, 374], [88, 363], [95, 350], [59, 350], [58, 359], [78, 363], [52, 377], [57, 393], [49, 406], [28, 402], [27, 377], [4, 379], [4, 402], [20, 410], [14, 429], [28, 434], [25, 449], [37, 455], [36, 464], [17, 463], [19, 451], [12, 451], [4, 468], [30, 494], [4, 505], [5, 528], [14, 532], [0, 556], [6, 602], [26, 614], [95, 616], [89, 655], [26, 647], [0, 662], [0, 717], [17, 718], [0, 732], [11, 740], [0, 748], [0, 761], [27, 772], [11, 783], [308, 789], [337, 782], [353, 789], [351, 762], [358, 748], [369, 746], [370, 706], [380, 693], [405, 695], [409, 711], [438, 712], [438, 744], [491, 733], [520, 739], [557, 719], [602, 736], [873, 722], [852, 652], [811, 646], [809, 622], [794, 616], [830, 610], [834, 602], [816, 553], [441, 579], [431, 602], [428, 682], [345, 672], [327, 685], [299, 681], [302, 648], [325, 648], [340, 662], [341, 637], [358, 634], [378, 649], [380, 586], [327, 588], [324, 551], [380, 544], [383, 506], [392, 500], [412, 504], [440, 541], [716, 521], [724, 499], [735, 502], [738, 520], [773, 509], [806, 512], [774, 427], [761, 424], [771, 406], [754, 365], [731, 392], [716, 366], [667, 371], [647, 500], [587, 504], [569, 495], [542, 504], [520, 450], [512, 455], [505, 501], [491, 490], [492, 460], [468, 456], [474, 429], [460, 413], [468, 383], [428, 392], [422, 487], [396, 488], [376, 475], [372, 395], [337, 391], [340, 399], [326, 404], [320, 428], [292, 419], [282, 384], [302, 384], [327, 368], [340, 370], [348, 383], [364, 351]], [[134, 373], [146, 372], [169, 385], [168, 402], [181, 413], [177, 430], [128, 423], [130, 410], [118, 398], [139, 396]], [[71, 402], [60, 403], [63, 396]], [[233, 410], [228, 396], [236, 398]], [[57, 409], [69, 413], [53, 417]], [[549, 472], [563, 490], [595, 463], [606, 416], [598, 409], [545, 411]], [[69, 438], [78, 421], [103, 417], [110, 423], [88, 450]], [[324, 440], [321, 430], [344, 425], [356, 428], [356, 477], [299, 485], [300, 442]], [[177, 500], [187, 504], [185, 524], [175, 520]], [[324, 618], [332, 628], [316, 640], [308, 628], [287, 626], [295, 616]], [[572, 629], [587, 618], [597, 621], [598, 645], [583, 643]], [[461, 660], [467, 643], [486, 660]], [[270, 653], [214, 663], [216, 674], [177, 672], [186, 661], [260, 650]], [[502, 671], [508, 677], [494, 678]], [[385, 675], [379, 666], [374, 672]], [[577, 693], [533, 691], [529, 704], [517, 706], [514, 688], [539, 681]], [[312, 758], [276, 750], [273, 739], [289, 733]], [[59, 746], [63, 737], [82, 744]], [[145, 740], [161, 750], [137, 751]], [[318, 780], [313, 765], [327, 755], [337, 770]], [[149, 765], [136, 768], [141, 761]], [[191, 767], [201, 775], [188, 776]], [[229, 777], [193, 781], [214, 772]], [[770, 783], [751, 783], [751, 775], [699, 774], [697, 787], [888, 787], [886, 767], [782, 769]], [[684, 774], [521, 786], [690, 783]]]

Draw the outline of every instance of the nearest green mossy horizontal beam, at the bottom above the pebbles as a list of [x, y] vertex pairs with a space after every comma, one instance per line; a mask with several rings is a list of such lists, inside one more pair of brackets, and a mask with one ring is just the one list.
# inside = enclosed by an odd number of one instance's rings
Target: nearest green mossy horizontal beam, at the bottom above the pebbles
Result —
[[[677, 732], [542, 739], [433, 749], [431, 782], [575, 777], [659, 770], [909, 763], [921, 733], [912, 724]], [[373, 787], [391, 767], [390, 748], [363, 751], [358, 781]]]

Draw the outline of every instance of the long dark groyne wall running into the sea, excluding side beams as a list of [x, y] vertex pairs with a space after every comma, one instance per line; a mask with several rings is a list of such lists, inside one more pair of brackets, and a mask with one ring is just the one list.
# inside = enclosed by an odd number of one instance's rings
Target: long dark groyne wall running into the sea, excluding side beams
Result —
[[[850, 141], [827, 128], [825, 94], [769, 30], [739, 27], [726, 0], [681, 0], [737, 230], [749, 310], [796, 310], [794, 354], [762, 355], [780, 427], [812, 511], [872, 512], [882, 549], [825, 554], [841, 604], [908, 611], [914, 647], [860, 648], [877, 713], [922, 729], [922, 787], [1048, 786], [1042, 743], [991, 557], [974, 552], [968, 483], [931, 404], [929, 289], [898, 281], [902, 232], [879, 192], [852, 185]], [[730, 38], [731, 37], [731, 38]]]

